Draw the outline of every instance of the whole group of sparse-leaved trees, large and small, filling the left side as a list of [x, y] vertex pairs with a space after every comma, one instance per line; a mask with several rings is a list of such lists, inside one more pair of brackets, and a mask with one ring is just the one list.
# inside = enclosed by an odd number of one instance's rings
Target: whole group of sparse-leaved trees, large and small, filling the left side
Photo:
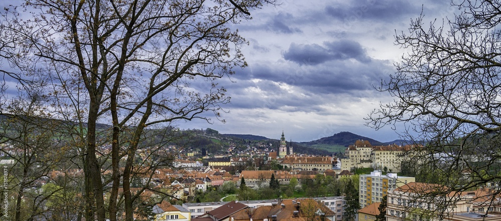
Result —
[[[146, 128], [182, 119], [209, 121], [201, 115], [205, 112], [220, 116], [220, 105], [229, 97], [215, 80], [245, 66], [239, 48], [247, 42], [228, 25], [249, 20], [250, 11], [269, 3], [27, 0], [2, 11], [0, 73], [9, 84], [2, 84], [0, 109], [37, 127], [24, 137], [2, 131], [10, 137], [1, 140], [9, 148], [24, 145], [24, 155], [13, 156], [23, 164], [23, 172], [12, 173], [22, 181], [11, 194], [24, 197], [18, 188], [29, 184], [23, 174], [31, 180], [47, 175], [31, 175], [33, 163], [61, 170], [68, 169], [61, 164], [69, 162], [83, 171], [78, 220], [133, 220], [140, 195], [149, 188], [133, 190], [133, 175], [153, 174], [172, 159], [154, 157], [160, 156], [159, 149], [150, 149], [157, 146]], [[17, 109], [18, 103], [22, 109]], [[52, 120], [32, 120], [44, 117]], [[102, 131], [99, 123], [112, 127]], [[47, 128], [51, 126], [57, 132]], [[36, 143], [33, 136], [51, 139]], [[51, 148], [57, 150], [49, 155]], [[138, 161], [143, 148], [148, 160]], [[102, 173], [106, 169], [109, 175]], [[32, 207], [44, 207], [41, 201], [34, 196]], [[16, 213], [13, 219], [21, 220], [26, 210], [16, 204], [10, 210]], [[45, 214], [27, 213], [32, 214], [28, 219]]]

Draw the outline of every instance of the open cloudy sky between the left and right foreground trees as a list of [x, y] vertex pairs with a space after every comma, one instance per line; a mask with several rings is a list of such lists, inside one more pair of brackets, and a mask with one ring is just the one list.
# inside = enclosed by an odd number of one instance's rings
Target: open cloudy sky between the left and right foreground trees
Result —
[[[366, 127], [364, 117], [391, 101], [373, 85], [394, 72], [405, 52], [395, 31], [407, 31], [421, 11], [424, 21], [451, 18], [448, 1], [288, 1], [254, 11], [236, 27], [249, 42], [248, 67], [220, 84], [231, 104], [226, 123], [180, 122], [181, 128], [311, 141], [349, 131], [382, 142], [392, 128]], [[397, 131], [402, 127], [397, 127]]]

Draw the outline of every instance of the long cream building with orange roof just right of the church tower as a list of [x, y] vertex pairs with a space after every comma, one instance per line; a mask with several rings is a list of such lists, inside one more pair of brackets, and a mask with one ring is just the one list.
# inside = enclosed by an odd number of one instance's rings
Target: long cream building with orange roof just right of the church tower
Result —
[[285, 156], [280, 165], [293, 170], [319, 171], [332, 169], [337, 160], [326, 156]]

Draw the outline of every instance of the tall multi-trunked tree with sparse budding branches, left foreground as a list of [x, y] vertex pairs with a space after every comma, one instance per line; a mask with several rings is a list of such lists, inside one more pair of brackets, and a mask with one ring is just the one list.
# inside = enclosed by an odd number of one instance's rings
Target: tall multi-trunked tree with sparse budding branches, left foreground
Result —
[[[228, 25], [250, 19], [250, 10], [273, 1], [27, 0], [31, 19], [17, 8], [2, 13], [0, 32], [9, 47], [3, 58], [15, 67], [1, 72], [29, 87], [44, 86], [60, 111], [54, 117], [79, 125], [85, 172], [85, 218], [116, 220], [123, 187], [126, 220], [133, 218], [131, 175], [146, 127], [202, 118], [229, 102], [215, 80], [246, 66], [247, 42]], [[16, 45], [16, 47], [13, 47]], [[28, 81], [43, 76], [46, 85]], [[103, 197], [98, 123], [112, 127], [109, 202]], [[129, 139], [121, 132], [133, 130]], [[123, 150], [121, 150], [124, 148]], [[125, 154], [125, 161], [120, 153]], [[119, 168], [124, 171], [120, 181]], [[106, 204], [108, 207], [106, 208]]]

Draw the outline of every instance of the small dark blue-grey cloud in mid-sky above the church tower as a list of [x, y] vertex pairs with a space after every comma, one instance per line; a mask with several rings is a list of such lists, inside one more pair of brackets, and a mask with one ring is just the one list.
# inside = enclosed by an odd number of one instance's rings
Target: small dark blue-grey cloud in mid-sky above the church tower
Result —
[[299, 65], [317, 65], [327, 61], [347, 59], [355, 59], [362, 63], [371, 61], [358, 42], [340, 40], [325, 42], [324, 45], [325, 47], [317, 44], [292, 43], [289, 50], [284, 53], [284, 59]]

